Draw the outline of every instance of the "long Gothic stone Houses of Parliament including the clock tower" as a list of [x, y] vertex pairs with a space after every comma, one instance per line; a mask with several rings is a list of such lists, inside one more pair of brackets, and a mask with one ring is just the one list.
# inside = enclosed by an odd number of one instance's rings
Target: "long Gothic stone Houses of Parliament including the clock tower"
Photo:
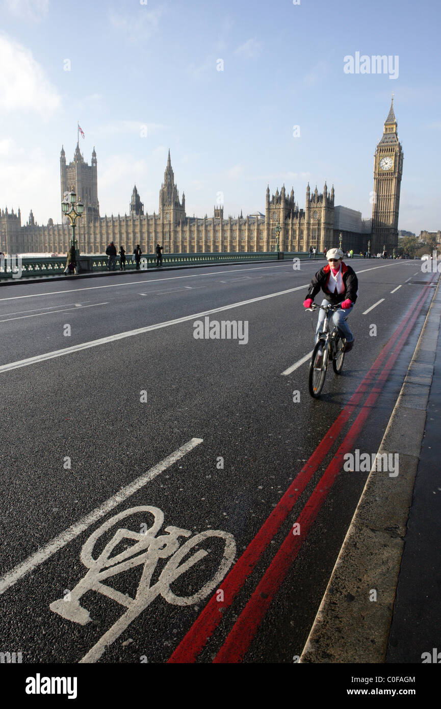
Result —
[[[75, 233], [83, 254], [104, 254], [110, 241], [117, 248], [123, 245], [128, 253], [140, 244], [143, 253], [152, 254], [157, 243], [164, 253], [265, 252], [276, 248], [277, 235], [279, 249], [287, 252], [308, 251], [310, 246], [320, 252], [323, 247], [338, 246], [340, 235], [345, 250], [365, 252], [370, 241], [372, 252], [383, 250], [384, 245], [391, 252], [398, 245], [402, 172], [403, 149], [393, 99], [374, 155], [372, 219], [362, 219], [359, 211], [335, 206], [334, 187], [328, 190], [326, 183], [320, 194], [317, 187], [311, 191], [308, 184], [304, 209], [298, 207], [293, 189], [288, 193], [282, 186], [270, 194], [268, 186], [264, 214], [224, 218], [223, 205], [218, 205], [209, 218], [188, 217], [184, 192], [179, 198], [174, 182], [170, 152], [157, 213], [147, 214], [134, 186], [128, 214], [101, 217], [95, 148], [90, 165], [84, 162], [78, 143], [72, 162], [67, 164], [64, 148], [60, 155], [61, 199], [73, 186], [84, 203]], [[20, 209], [16, 213], [7, 208], [0, 211], [0, 250], [5, 253], [64, 253], [71, 235], [68, 224], [55, 224], [52, 219], [45, 226], [38, 225], [32, 211], [23, 226]]]

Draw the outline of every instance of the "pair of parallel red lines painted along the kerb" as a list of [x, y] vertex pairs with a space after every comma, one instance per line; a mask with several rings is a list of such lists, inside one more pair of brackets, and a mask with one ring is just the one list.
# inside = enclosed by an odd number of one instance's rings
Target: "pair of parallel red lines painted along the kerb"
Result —
[[[435, 277], [433, 277], [432, 280], [434, 278]], [[299, 496], [306, 488], [306, 485], [316, 473], [330, 448], [335, 444], [335, 440], [337, 439], [337, 436], [340, 435], [343, 426], [347, 423], [347, 420], [349, 420], [352, 413], [354, 413], [368, 389], [371, 388], [377, 374], [379, 373], [379, 370], [383, 367], [384, 362], [386, 362], [386, 364], [384, 364], [384, 369], [382, 369], [376, 383], [372, 386], [369, 396], [359, 411], [357, 418], [355, 418], [354, 423], [352, 423], [350, 430], [347, 432], [347, 435], [337, 450], [335, 457], [333, 457], [332, 461], [328, 465], [328, 468], [325, 470], [325, 473], [318, 482], [316, 489], [314, 489], [311, 497], [308, 499], [301, 514], [299, 515], [297, 523], [300, 525], [300, 534], [294, 535], [292, 530], [290, 530], [279, 551], [272, 560], [272, 563], [269, 565], [267, 571], [262, 577], [262, 580], [259, 581], [255, 592], [252, 594], [250, 600], [247, 602], [247, 605], [245, 605], [245, 608], [242, 610], [238, 620], [225, 639], [225, 642], [216, 655], [214, 662], [233, 663], [240, 662], [243, 659], [248, 647], [250, 647], [252, 639], [255, 637], [255, 633], [257, 632], [260, 623], [262, 623], [264, 615], [267, 613], [275, 593], [277, 593], [279, 586], [286, 576], [289, 566], [291, 566], [299, 550], [301, 549], [301, 545], [306, 539], [311, 525], [316, 519], [318, 512], [325, 501], [328, 492], [330, 491], [330, 488], [333, 486], [337, 475], [342, 469], [343, 456], [348, 450], [351, 450], [357, 440], [357, 437], [359, 436], [359, 433], [362, 431], [363, 425], [372, 410], [379, 393], [381, 393], [381, 389], [383, 388], [384, 383], [391, 372], [393, 364], [396, 361], [398, 354], [401, 352], [403, 344], [406, 342], [406, 339], [415, 324], [415, 320], [418, 318], [420, 311], [423, 308], [425, 298], [428, 294], [428, 289], [429, 284], [428, 286], [425, 286], [423, 292], [420, 296], [418, 296], [418, 298], [415, 299], [411, 307], [408, 309], [406, 316], [403, 318], [400, 325], [398, 325], [395, 333], [393, 333], [391, 339], [386, 344], [379, 357], [377, 357], [371, 369], [369, 369], [369, 372], [367, 372], [363, 381], [359, 384], [357, 390], [347, 402], [345, 408], [342, 409], [340, 415], [338, 415], [337, 419], [328, 430], [328, 433], [320, 441], [318, 447], [291, 483], [289, 489], [281, 498], [277, 507], [274, 508], [272, 513], [260, 528], [259, 532], [257, 532], [257, 535], [250, 542], [247, 549], [245, 549], [245, 552], [242, 554], [240, 559], [238, 559], [238, 562], [236, 562], [228, 576], [226, 576], [223, 580], [221, 588], [223, 590], [224, 600], [222, 602], [218, 601], [218, 594], [212, 596], [206, 607], [199, 615], [199, 618], [196, 619], [189, 632], [186, 633], [182, 642], [180, 642], [172, 656], [169, 657], [168, 662], [184, 663], [196, 661], [196, 657], [198, 657], [201, 650], [216, 630], [220, 620], [222, 620], [223, 610], [228, 608], [231, 603], [233, 603], [247, 577], [250, 576], [253, 569], [255, 569], [255, 566], [264, 550], [267, 549], [269, 543], [279, 531], [281, 525], [291, 512]], [[393, 351], [391, 352], [391, 350]], [[386, 360], [390, 352], [391, 354], [389, 359]]]

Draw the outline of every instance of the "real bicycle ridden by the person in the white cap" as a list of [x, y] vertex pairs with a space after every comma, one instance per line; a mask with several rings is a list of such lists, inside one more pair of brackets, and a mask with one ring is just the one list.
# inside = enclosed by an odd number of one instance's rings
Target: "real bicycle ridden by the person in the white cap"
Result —
[[309, 311], [315, 311], [321, 308], [325, 311], [325, 320], [323, 322], [323, 331], [318, 333], [318, 340], [313, 349], [311, 362], [309, 364], [308, 387], [309, 393], [313, 398], [318, 398], [325, 384], [326, 372], [328, 372], [329, 362], [333, 363], [335, 374], [340, 374], [345, 359], [345, 342], [338, 334], [337, 328], [334, 326], [331, 332], [329, 331], [330, 312], [340, 310], [340, 305], [333, 306], [327, 303], [325, 306], [318, 306], [313, 303], [311, 308], [306, 308]]

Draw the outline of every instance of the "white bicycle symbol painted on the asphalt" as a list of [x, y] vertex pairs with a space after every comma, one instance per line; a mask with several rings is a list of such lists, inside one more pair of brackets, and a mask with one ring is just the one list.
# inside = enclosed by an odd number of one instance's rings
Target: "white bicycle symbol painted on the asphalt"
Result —
[[[104, 535], [114, 525], [121, 522], [126, 517], [137, 513], [150, 513], [154, 517], [152, 526], [145, 532], [133, 532], [132, 530], [122, 527], [118, 529], [111, 540], [107, 542], [103, 551], [94, 559], [93, 551], [96, 542], [101, 535]], [[62, 618], [72, 620], [74, 623], [86, 625], [91, 621], [89, 611], [80, 605], [79, 601], [87, 591], [97, 591], [103, 593], [104, 596], [112, 598], [113, 601], [121, 603], [127, 610], [121, 615], [116, 623], [104, 633], [94, 647], [80, 660], [80, 662], [95, 662], [106, 651], [106, 648], [111, 645], [140, 613], [147, 608], [157, 596], [162, 596], [168, 603], [173, 605], [191, 605], [198, 603], [203, 598], [208, 596], [222, 581], [230, 566], [233, 564], [236, 553], [235, 540], [230, 532], [222, 532], [220, 530], [206, 530], [191, 537], [190, 530], [184, 530], [180, 527], [165, 527], [164, 531], [167, 534], [156, 536], [164, 523], [164, 513], [157, 507], [141, 506], [132, 507], [124, 512], [119, 513], [107, 520], [99, 527], [82, 547], [80, 559], [84, 566], [89, 569], [86, 575], [78, 582], [78, 584], [70, 591], [70, 601], [65, 598], [59, 598], [50, 604], [50, 610], [58, 613]], [[182, 546], [179, 537], [191, 537]], [[192, 554], [189, 559], [182, 562], [182, 559], [189, 554], [191, 549], [199, 545], [208, 537], [220, 537], [225, 541], [223, 549], [223, 557], [218, 566], [216, 574], [209, 579], [202, 588], [193, 593], [191, 596], [176, 596], [170, 588], [173, 581], [176, 581], [179, 576], [182, 576], [186, 571], [191, 569], [194, 564], [197, 564], [203, 557], [209, 553], [204, 549], [199, 549]], [[111, 552], [117, 547], [122, 540], [133, 540], [135, 544], [130, 545], [128, 549], [115, 554], [111, 557]], [[160, 559], [169, 560], [162, 569], [161, 574], [155, 584], [150, 586], [152, 574], [155, 572], [157, 563]], [[106, 586], [103, 582], [106, 579], [111, 579], [116, 574], [122, 574], [123, 571], [133, 569], [140, 564], [144, 565], [141, 574], [138, 589], [135, 598], [131, 598], [127, 593], [116, 591], [111, 586]]]

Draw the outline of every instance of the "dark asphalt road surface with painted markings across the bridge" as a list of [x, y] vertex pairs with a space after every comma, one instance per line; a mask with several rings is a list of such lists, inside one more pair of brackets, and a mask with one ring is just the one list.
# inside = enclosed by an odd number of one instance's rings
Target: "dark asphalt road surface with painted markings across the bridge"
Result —
[[[282, 373], [312, 350], [316, 316], [301, 303], [320, 265], [0, 289], [4, 652], [57, 663], [301, 654], [367, 473], [337, 476], [295, 556], [274, 562], [272, 591], [257, 585], [335, 448], [303, 490], [296, 476], [430, 279], [417, 261], [353, 263], [355, 348], [314, 401], [307, 362]], [[361, 451], [378, 450], [431, 296], [357, 437]], [[242, 343], [194, 337], [216, 308], [210, 321], [247, 323]]]

